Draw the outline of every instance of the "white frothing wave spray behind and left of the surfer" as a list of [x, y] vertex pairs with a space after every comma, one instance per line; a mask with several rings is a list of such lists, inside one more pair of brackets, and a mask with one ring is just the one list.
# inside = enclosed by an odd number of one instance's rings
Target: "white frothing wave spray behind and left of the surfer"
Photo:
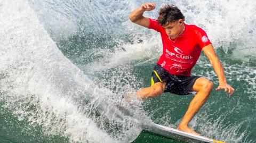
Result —
[[[66, 136], [71, 142], [131, 142], [137, 138], [142, 130], [138, 122], [151, 121], [150, 117], [138, 106], [135, 118], [131, 118], [115, 110], [115, 105], [123, 102], [122, 95], [127, 91], [146, 85], [142, 76], [136, 77], [131, 69], [153, 65], [161, 53], [158, 33], [127, 19], [129, 13], [144, 2], [1, 1], [0, 99], [3, 107], [9, 108], [19, 120], [28, 121], [30, 127], [42, 126], [46, 134]], [[230, 73], [228, 78], [236, 74], [238, 81], [249, 83], [241, 88], [250, 94], [246, 99], [254, 100], [255, 72], [251, 72], [254, 68], [233, 68], [235, 64], [229, 65], [228, 61], [254, 59], [256, 4], [238, 0], [156, 1], [157, 9], [166, 3], [177, 5], [187, 23], [206, 30], [214, 47], [229, 56], [225, 61]], [[145, 15], [156, 18], [157, 10]], [[96, 40], [92, 41], [90, 35]], [[71, 43], [73, 36], [85, 40]], [[69, 50], [70, 57], [60, 51], [63, 48], [60, 43], [65, 40], [68, 46], [75, 45]], [[84, 41], [87, 45], [78, 48], [77, 43]], [[87, 50], [82, 51], [84, 48]], [[76, 50], [78, 55], [73, 52]], [[84, 62], [86, 57], [92, 58]], [[249, 58], [246, 60], [246, 57]], [[199, 61], [196, 70], [205, 68], [206, 63]], [[244, 73], [251, 74], [244, 77]], [[209, 79], [214, 77], [210, 70], [204, 74]], [[205, 119], [206, 123], [227, 126], [209, 118]], [[242, 123], [237, 124], [234, 128], [221, 129], [235, 130], [228, 135], [237, 133]], [[210, 125], [211, 128], [217, 126]], [[214, 131], [207, 135], [223, 137]], [[234, 138], [229, 140], [239, 142], [245, 138], [245, 132]]]

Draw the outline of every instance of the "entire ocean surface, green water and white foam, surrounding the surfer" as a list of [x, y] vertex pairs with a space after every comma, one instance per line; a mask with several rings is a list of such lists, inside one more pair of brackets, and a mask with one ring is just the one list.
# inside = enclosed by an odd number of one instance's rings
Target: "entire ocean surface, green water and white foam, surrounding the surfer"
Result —
[[[123, 99], [150, 86], [162, 52], [157, 32], [128, 19], [145, 2], [0, 0], [0, 142], [180, 142], [142, 124], [176, 128], [193, 95], [165, 93], [133, 106]], [[213, 90], [190, 127], [226, 142], [256, 142], [256, 3], [152, 2], [156, 10], [146, 16], [175, 4], [186, 23], [207, 32], [236, 90], [233, 97]], [[203, 53], [192, 72], [218, 86]]]

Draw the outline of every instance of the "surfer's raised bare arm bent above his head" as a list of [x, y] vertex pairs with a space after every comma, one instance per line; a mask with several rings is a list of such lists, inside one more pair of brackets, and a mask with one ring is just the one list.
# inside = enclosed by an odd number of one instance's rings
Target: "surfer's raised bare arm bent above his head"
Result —
[[130, 15], [129, 19], [140, 26], [148, 28], [149, 19], [143, 16], [145, 11], [151, 11], [156, 8], [156, 4], [154, 3], [145, 3], [142, 4], [138, 9], [135, 9]]

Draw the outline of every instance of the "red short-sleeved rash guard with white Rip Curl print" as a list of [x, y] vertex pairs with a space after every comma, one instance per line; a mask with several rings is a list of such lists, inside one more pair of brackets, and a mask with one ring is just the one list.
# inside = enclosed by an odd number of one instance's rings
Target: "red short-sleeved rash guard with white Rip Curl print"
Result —
[[[185, 24], [185, 23], [184, 23]], [[164, 28], [155, 19], [149, 19], [149, 29], [161, 33], [163, 54], [157, 64], [170, 74], [190, 76], [204, 46], [211, 44], [205, 31], [195, 25], [185, 24], [185, 31], [177, 38], [170, 40]]]

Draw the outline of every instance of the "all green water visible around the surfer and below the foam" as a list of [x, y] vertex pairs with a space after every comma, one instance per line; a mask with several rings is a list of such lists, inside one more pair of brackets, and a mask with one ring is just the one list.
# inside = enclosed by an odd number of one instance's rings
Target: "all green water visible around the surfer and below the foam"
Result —
[[[109, 53], [114, 53], [117, 48], [122, 49], [122, 47], [118, 47], [117, 41], [110, 42], [112, 37], [94, 37], [94, 39], [93, 37], [93, 35], [81, 36], [78, 34], [60, 41], [57, 45], [62, 53], [85, 74], [89, 75], [89, 78], [99, 87], [106, 87], [114, 92], [117, 88], [115, 86], [117, 81], [114, 81], [113, 77], [119, 76], [119, 74], [124, 75], [124, 77], [118, 77], [121, 78], [121, 81], [124, 80], [122, 83], [130, 84], [134, 89], [150, 86], [151, 71], [157, 58], [129, 61], [126, 65], [117, 65], [102, 71], [86, 69], [87, 64], [95, 61], [101, 62], [99, 59], [106, 58], [105, 53], [99, 52], [101, 49], [107, 49]], [[93, 41], [89, 43], [89, 39], [93, 39]], [[105, 41], [107, 42], [105, 43]], [[129, 38], [124, 43], [133, 44]], [[125, 49], [122, 50], [125, 51]], [[256, 127], [255, 58], [252, 56], [246, 62], [232, 60], [232, 52], [233, 48], [229, 48], [227, 53], [221, 47], [217, 49], [217, 54], [226, 67], [228, 83], [236, 89], [234, 96], [228, 97], [223, 91], [213, 90], [206, 104], [196, 114], [190, 125], [203, 136], [229, 142], [254, 142], [256, 140], [254, 136], [256, 134], [254, 130]], [[214, 89], [218, 86], [218, 79], [204, 54], [199, 58], [198, 64], [193, 69], [193, 74], [202, 75], [214, 81]], [[109, 81], [113, 83], [108, 84]], [[192, 98], [193, 95], [178, 96], [165, 93], [157, 98], [146, 100], [143, 103], [143, 110], [155, 123], [175, 128]], [[57, 134], [47, 134], [45, 132], [47, 129], [44, 129], [40, 124], [31, 124], [28, 119], [19, 119], [12, 114], [15, 110], [12, 111], [3, 105], [4, 100], [1, 101], [2, 107], [0, 108], [0, 142], [69, 142], [69, 137], [62, 136], [61, 131]], [[31, 108], [28, 108], [28, 113], [30, 110]], [[133, 142], [180, 141], [142, 131]]]

